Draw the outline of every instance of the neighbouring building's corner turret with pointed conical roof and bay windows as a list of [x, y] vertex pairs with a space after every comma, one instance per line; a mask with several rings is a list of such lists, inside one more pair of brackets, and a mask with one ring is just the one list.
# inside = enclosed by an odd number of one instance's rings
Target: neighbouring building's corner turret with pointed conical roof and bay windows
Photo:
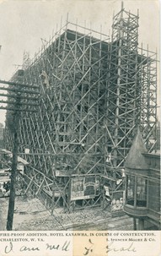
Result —
[[134, 218], [134, 229], [160, 229], [160, 154], [148, 153], [139, 129], [126, 158], [125, 172], [124, 211]]

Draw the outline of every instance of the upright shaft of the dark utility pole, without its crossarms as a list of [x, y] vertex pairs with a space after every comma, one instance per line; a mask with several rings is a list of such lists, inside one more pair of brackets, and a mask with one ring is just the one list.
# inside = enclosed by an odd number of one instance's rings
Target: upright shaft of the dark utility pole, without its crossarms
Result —
[[10, 185], [10, 196], [8, 204], [8, 221], [7, 230], [12, 231], [13, 229], [13, 212], [14, 212], [14, 201], [15, 201], [15, 188], [16, 188], [16, 176], [17, 176], [17, 164], [18, 164], [18, 148], [19, 148], [19, 95], [16, 97], [15, 108], [13, 113], [13, 161], [11, 168], [11, 185]]

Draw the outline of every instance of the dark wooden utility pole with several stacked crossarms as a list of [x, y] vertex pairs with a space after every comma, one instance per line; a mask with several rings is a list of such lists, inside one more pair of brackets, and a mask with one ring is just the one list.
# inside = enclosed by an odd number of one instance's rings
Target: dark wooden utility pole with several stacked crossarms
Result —
[[[13, 230], [13, 212], [16, 194], [16, 177], [18, 165], [18, 150], [19, 150], [19, 119], [21, 112], [37, 112], [32, 108], [25, 108], [26, 106], [39, 106], [39, 86], [32, 84], [14, 83], [10, 81], [0, 80], [0, 84], [10, 84], [13, 88], [0, 87], [0, 90], [11, 91], [12, 94], [0, 94], [3, 97], [12, 98], [13, 101], [0, 101], [7, 103], [8, 106], [0, 106], [0, 109], [7, 109], [13, 111], [13, 160], [11, 166], [11, 183], [10, 183], [10, 196], [8, 204], [8, 220], [7, 230]], [[23, 88], [25, 87], [25, 89]], [[27, 89], [26, 89], [27, 88]], [[29, 95], [34, 95], [30, 97]], [[37, 97], [35, 95], [38, 95]], [[23, 101], [23, 99], [25, 101]], [[26, 100], [29, 100], [28, 102]], [[32, 102], [34, 101], [34, 103]], [[37, 102], [36, 102], [37, 101]], [[23, 106], [23, 108], [21, 108]]]

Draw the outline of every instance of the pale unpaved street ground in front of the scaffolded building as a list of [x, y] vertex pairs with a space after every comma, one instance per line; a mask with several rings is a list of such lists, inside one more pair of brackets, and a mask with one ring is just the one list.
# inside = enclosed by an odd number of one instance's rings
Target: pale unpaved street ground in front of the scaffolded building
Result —
[[[8, 199], [0, 199], [0, 230], [5, 230]], [[39, 199], [17, 197], [15, 201], [13, 230], [16, 231], [51, 231], [51, 230], [132, 230], [132, 219], [127, 215], [111, 217], [110, 212], [93, 208], [64, 214], [62, 208], [49, 210]]]

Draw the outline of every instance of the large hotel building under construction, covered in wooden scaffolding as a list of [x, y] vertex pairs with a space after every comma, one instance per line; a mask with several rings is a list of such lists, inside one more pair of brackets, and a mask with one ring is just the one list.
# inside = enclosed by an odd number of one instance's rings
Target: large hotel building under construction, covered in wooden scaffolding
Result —
[[[51, 211], [121, 200], [137, 127], [155, 150], [157, 56], [139, 48], [138, 19], [122, 7], [111, 37], [67, 21], [12, 78], [40, 86], [37, 112], [20, 117], [19, 155], [29, 163], [21, 178]], [[5, 144], [12, 150], [9, 113]]]

